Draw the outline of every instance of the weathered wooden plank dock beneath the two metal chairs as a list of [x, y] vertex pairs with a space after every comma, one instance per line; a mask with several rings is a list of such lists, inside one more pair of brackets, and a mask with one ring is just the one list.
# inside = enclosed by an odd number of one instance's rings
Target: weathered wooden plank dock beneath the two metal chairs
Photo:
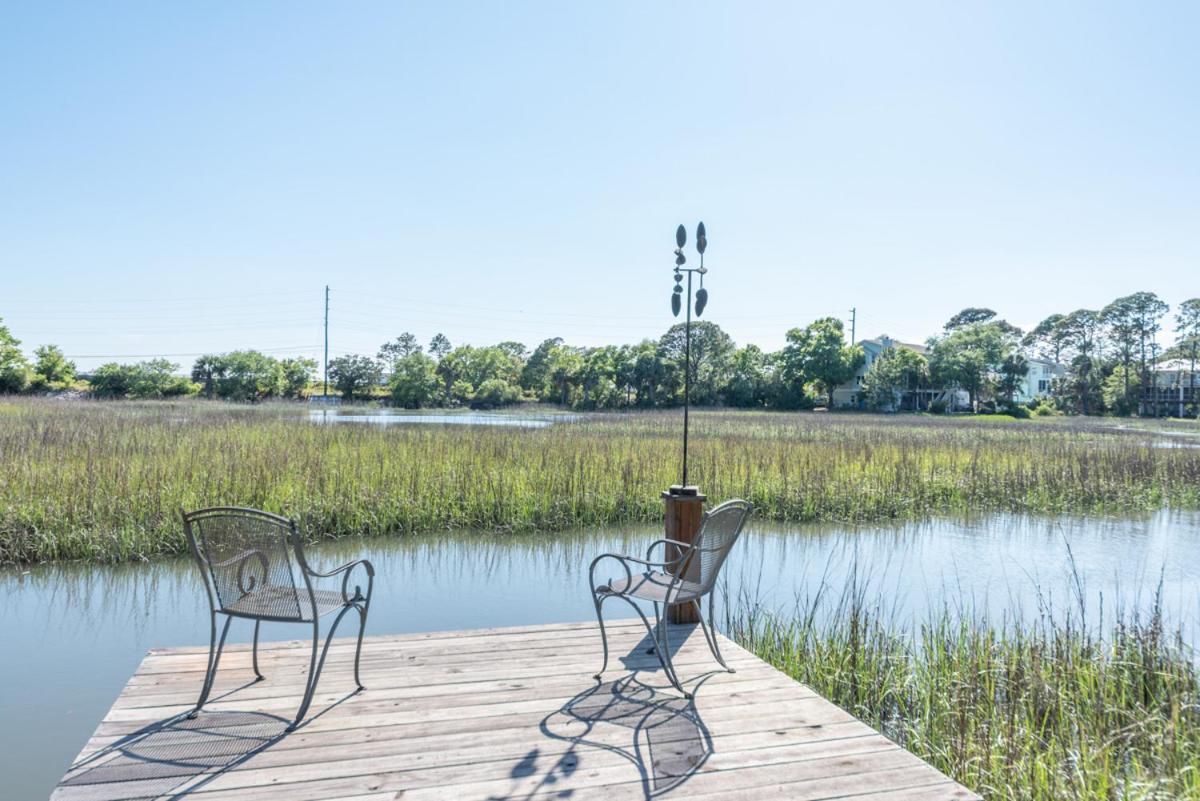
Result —
[[646, 631], [613, 621], [605, 682], [594, 622], [371, 637], [352, 694], [353, 640], [335, 640], [308, 722], [308, 644], [229, 646], [194, 721], [206, 649], [151, 651], [54, 790], [55, 801], [619, 801], [978, 799], [804, 685], [701, 632], [671, 691]]

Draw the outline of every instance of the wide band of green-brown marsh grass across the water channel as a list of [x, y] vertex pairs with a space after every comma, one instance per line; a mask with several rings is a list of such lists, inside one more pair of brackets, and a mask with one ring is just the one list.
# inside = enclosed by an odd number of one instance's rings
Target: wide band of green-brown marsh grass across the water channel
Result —
[[[548, 428], [313, 426], [295, 405], [0, 401], [0, 562], [184, 550], [179, 510], [245, 505], [311, 537], [660, 519], [679, 415]], [[691, 477], [784, 522], [1200, 507], [1200, 448], [1073, 421], [701, 411]]]

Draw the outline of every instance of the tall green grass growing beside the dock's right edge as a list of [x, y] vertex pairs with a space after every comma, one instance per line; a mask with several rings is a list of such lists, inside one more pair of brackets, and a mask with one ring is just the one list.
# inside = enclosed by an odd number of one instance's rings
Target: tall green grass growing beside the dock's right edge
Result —
[[[1200, 799], [1200, 673], [1159, 607], [1100, 637], [1079, 616], [916, 630], [850, 590], [793, 615], [743, 603], [736, 639], [989, 801]], [[1100, 626], [1099, 628], [1103, 628]]]

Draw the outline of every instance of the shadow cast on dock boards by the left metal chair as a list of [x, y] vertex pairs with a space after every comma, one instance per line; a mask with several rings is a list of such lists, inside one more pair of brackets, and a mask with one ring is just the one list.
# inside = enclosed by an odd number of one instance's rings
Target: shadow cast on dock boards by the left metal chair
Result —
[[[295, 731], [354, 694], [308, 716]], [[241, 710], [204, 710], [194, 719], [178, 715], [155, 721], [71, 765], [59, 785], [119, 783], [122, 797], [182, 799], [282, 741], [290, 734], [290, 723], [277, 715]]]

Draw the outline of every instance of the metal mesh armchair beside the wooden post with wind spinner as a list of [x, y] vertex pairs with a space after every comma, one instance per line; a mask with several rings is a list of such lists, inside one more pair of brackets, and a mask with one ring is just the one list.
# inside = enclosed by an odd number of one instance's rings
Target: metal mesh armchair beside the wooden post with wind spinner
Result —
[[[592, 583], [592, 601], [596, 608], [596, 619], [600, 621], [600, 639], [604, 643], [604, 664], [600, 667], [600, 673], [595, 674], [596, 681], [608, 667], [608, 634], [604, 627], [604, 602], [608, 598], [620, 598], [634, 607], [634, 612], [642, 619], [647, 633], [654, 642], [654, 646], [649, 651], [658, 654], [667, 680], [683, 693], [684, 698], [691, 698], [691, 693], [679, 683], [679, 676], [676, 674], [674, 663], [671, 660], [671, 642], [665, 614], [667, 607], [682, 603], [694, 604], [700, 618], [700, 627], [704, 632], [704, 640], [708, 643], [708, 650], [713, 652], [722, 668], [733, 673], [733, 668], [725, 664], [721, 650], [716, 644], [716, 631], [712, 624], [713, 588], [716, 585], [716, 577], [721, 572], [726, 556], [730, 555], [730, 549], [737, 542], [738, 535], [742, 534], [742, 526], [745, 525], [752, 510], [754, 507], [744, 500], [726, 501], [704, 513], [696, 540], [690, 544], [678, 540], [655, 540], [646, 549], [646, 559], [620, 554], [600, 554], [592, 560], [592, 567], [588, 572]], [[664, 561], [650, 561], [650, 555], [659, 546], [664, 549]], [[596, 583], [596, 566], [605, 559], [617, 560], [625, 574]], [[708, 621], [704, 620], [701, 607], [701, 600], [704, 596], [708, 596]], [[653, 627], [646, 614], [634, 603], [634, 598], [649, 601], [654, 604]], [[662, 607], [661, 613], [660, 606]]]

